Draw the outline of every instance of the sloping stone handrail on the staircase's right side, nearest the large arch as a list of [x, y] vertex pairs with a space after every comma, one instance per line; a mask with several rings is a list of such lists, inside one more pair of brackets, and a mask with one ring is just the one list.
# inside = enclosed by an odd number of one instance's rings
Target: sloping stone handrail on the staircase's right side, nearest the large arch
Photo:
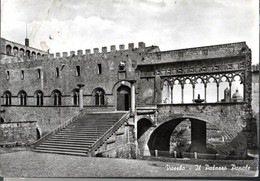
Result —
[[125, 113], [122, 118], [117, 121], [114, 126], [108, 129], [95, 143], [90, 146], [90, 150], [87, 152], [89, 156], [93, 156], [94, 152], [100, 147], [105, 140], [107, 140], [122, 124], [130, 117], [130, 112]]

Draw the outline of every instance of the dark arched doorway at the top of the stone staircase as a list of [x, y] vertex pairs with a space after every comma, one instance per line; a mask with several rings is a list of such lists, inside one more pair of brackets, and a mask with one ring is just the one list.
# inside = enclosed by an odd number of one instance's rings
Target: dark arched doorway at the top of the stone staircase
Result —
[[127, 86], [120, 86], [117, 89], [117, 110], [128, 111], [130, 109], [131, 89]]

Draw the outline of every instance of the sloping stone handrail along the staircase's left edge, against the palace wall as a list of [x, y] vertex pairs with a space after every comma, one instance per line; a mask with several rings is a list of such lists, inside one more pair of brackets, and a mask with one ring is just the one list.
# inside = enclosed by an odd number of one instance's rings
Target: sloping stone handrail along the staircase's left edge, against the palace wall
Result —
[[70, 125], [71, 123], [73, 123], [74, 121], [76, 121], [80, 116], [82, 116], [83, 111], [80, 111], [79, 114], [73, 116], [72, 118], [69, 118], [67, 121], [65, 121], [63, 124], [59, 125], [58, 127], [56, 127], [55, 129], [53, 129], [52, 131], [50, 131], [48, 134], [44, 135], [43, 137], [41, 137], [39, 140], [37, 140], [37, 142], [35, 142], [33, 144], [33, 148], [36, 148], [39, 144], [41, 144], [42, 142], [44, 142], [45, 140], [47, 140], [49, 137], [51, 137], [52, 135], [56, 134], [58, 131], [60, 131], [61, 129], [67, 127], [68, 125]]

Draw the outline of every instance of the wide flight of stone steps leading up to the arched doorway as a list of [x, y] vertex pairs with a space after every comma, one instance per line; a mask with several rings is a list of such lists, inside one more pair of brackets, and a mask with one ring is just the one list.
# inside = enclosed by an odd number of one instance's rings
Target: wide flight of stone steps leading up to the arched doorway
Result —
[[[125, 112], [88, 113], [54, 131], [35, 145], [35, 152], [87, 156], [116, 131]], [[122, 121], [121, 121], [122, 122]], [[115, 129], [115, 130], [113, 130]], [[99, 145], [97, 145], [98, 143]]]

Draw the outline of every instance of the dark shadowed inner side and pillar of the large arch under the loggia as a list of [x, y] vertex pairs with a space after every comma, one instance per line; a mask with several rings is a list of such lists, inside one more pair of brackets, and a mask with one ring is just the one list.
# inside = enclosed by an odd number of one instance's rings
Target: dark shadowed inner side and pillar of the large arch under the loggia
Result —
[[[148, 141], [151, 155], [155, 155], [155, 150], [157, 150], [159, 156], [170, 156], [170, 141], [173, 131], [184, 120], [187, 120], [187, 118], [172, 119], [153, 131]], [[191, 145], [186, 151], [206, 153], [206, 122], [194, 118], [189, 118], [189, 120], [191, 124]]]

